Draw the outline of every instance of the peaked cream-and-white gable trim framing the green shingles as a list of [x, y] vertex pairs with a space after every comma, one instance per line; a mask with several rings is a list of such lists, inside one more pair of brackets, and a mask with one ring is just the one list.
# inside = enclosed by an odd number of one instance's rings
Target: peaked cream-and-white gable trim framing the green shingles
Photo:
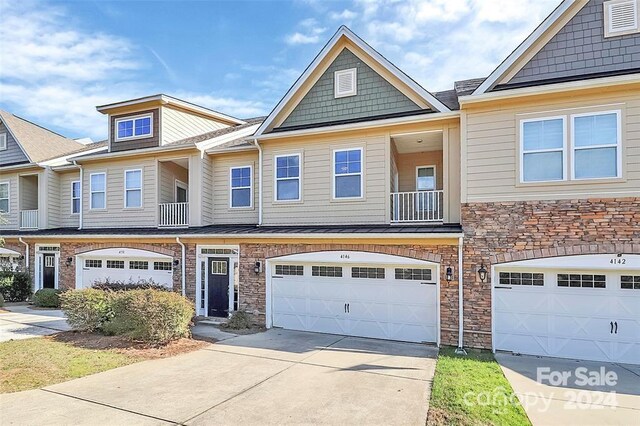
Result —
[[284, 110], [284, 108], [290, 103], [290, 101], [297, 95], [304, 83], [311, 77], [316, 71], [320, 63], [332, 52], [333, 48], [342, 40], [348, 40], [362, 51], [367, 53], [375, 62], [381, 65], [386, 71], [398, 78], [402, 83], [409, 87], [416, 93], [426, 104], [430, 105], [437, 112], [450, 112], [450, 109], [438, 100], [435, 96], [425, 90], [422, 86], [416, 83], [415, 80], [410, 78], [407, 74], [402, 72], [398, 67], [389, 62], [384, 56], [378, 53], [375, 49], [369, 46], [364, 40], [358, 37], [353, 31], [346, 26], [341, 26], [338, 31], [331, 37], [327, 44], [322, 48], [320, 53], [314, 58], [314, 60], [305, 69], [302, 75], [296, 80], [296, 82], [287, 91], [284, 97], [278, 102], [276, 107], [271, 111], [266, 120], [258, 128], [256, 136], [267, 133], [270, 127], [274, 124], [276, 117]]

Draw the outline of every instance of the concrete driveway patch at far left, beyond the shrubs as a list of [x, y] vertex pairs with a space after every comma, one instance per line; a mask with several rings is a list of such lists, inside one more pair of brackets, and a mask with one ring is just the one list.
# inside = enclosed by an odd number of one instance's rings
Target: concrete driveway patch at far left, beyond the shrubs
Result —
[[0, 342], [47, 336], [70, 329], [60, 310], [31, 309], [13, 305], [0, 311]]

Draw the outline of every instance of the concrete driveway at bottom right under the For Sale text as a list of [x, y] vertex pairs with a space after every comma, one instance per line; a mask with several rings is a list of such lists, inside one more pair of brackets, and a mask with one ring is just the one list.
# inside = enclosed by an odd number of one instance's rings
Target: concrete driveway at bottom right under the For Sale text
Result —
[[538, 425], [640, 425], [640, 365], [497, 353]]

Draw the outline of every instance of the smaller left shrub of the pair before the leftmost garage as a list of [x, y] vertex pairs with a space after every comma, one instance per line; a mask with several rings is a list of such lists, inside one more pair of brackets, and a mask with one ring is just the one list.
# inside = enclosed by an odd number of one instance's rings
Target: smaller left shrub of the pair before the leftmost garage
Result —
[[60, 304], [71, 327], [83, 331], [98, 331], [113, 316], [113, 299], [111, 292], [87, 288], [62, 293]]

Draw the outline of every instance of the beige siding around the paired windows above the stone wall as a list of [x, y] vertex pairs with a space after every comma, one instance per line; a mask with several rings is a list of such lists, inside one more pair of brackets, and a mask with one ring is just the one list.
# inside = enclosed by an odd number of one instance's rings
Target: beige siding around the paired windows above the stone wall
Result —
[[[548, 99], [548, 100], [545, 100]], [[621, 111], [622, 179], [520, 183], [520, 121], [597, 111]], [[565, 94], [467, 111], [467, 199], [549, 200], [640, 195], [640, 90]], [[568, 133], [567, 153], [572, 155]], [[567, 171], [570, 178], [570, 169]]]

